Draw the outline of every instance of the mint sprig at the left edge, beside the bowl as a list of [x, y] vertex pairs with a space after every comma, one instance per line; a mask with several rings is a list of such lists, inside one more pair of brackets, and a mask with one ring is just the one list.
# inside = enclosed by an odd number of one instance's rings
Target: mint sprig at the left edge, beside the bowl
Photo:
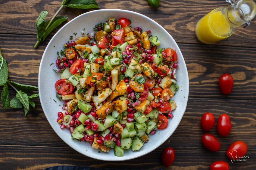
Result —
[[[28, 92], [36, 91], [38, 90], [38, 87], [32, 86], [32, 85], [23, 85], [23, 84], [8, 80], [8, 66], [7, 66], [6, 60], [2, 56], [1, 49], [0, 49], [0, 75], [1, 75], [0, 86], [4, 85], [2, 94], [1, 94], [3, 109], [7, 109], [8, 107], [13, 109], [20, 109], [24, 107], [25, 115], [27, 115], [30, 109], [30, 106], [32, 108], [36, 107], [36, 103], [30, 99], [38, 97], [39, 94], [36, 93], [28, 96], [23, 91], [28, 91]], [[8, 85], [11, 86], [17, 92], [15, 97], [11, 101], [9, 97]]]

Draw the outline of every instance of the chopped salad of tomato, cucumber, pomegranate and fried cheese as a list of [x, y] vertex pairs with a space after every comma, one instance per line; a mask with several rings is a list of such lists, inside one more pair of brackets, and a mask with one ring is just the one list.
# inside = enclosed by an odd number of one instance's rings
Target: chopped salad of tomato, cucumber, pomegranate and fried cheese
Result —
[[150, 28], [131, 22], [111, 17], [75, 40], [67, 37], [53, 67], [60, 74], [57, 97], [64, 100], [56, 113], [60, 128], [99, 151], [114, 148], [117, 157], [147, 147], [151, 135], [167, 128], [179, 89], [176, 51], [158, 48]]

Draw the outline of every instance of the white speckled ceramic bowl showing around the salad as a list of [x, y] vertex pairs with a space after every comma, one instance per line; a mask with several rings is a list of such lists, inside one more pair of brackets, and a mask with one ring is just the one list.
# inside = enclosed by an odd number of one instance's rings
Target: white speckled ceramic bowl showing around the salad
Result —
[[[158, 130], [155, 135], [150, 135], [150, 140], [145, 143], [139, 151], [132, 151], [127, 149], [124, 151], [124, 157], [116, 157], [114, 155], [113, 149], [109, 153], [101, 152], [91, 148], [89, 143], [79, 142], [72, 140], [70, 137], [70, 132], [67, 129], [61, 130], [60, 124], [56, 122], [57, 113], [61, 111], [60, 102], [56, 98], [55, 82], [60, 79], [60, 74], [54, 73], [52, 70], [51, 63], [55, 64], [56, 52], [63, 49], [63, 44], [65, 44], [70, 36], [75, 37], [82, 36], [81, 31], [85, 28], [85, 32], [93, 31], [94, 25], [105, 22], [110, 17], [116, 17], [117, 19], [121, 17], [126, 17], [131, 20], [131, 26], [139, 26], [143, 30], [151, 30], [151, 35], [158, 36], [162, 48], [171, 47], [176, 50], [178, 56], [179, 67], [176, 72], [177, 84], [180, 88], [176, 95], [173, 97], [177, 104], [177, 109], [173, 111], [174, 117], [169, 119], [168, 127], [164, 130]], [[76, 36], [73, 33], [77, 33]], [[128, 10], [118, 10], [118, 9], [106, 9], [106, 10], [94, 10], [88, 13], [84, 13], [76, 18], [72, 19], [66, 25], [64, 25], [48, 43], [45, 52], [42, 56], [42, 60], [39, 67], [39, 97], [42, 105], [42, 109], [45, 113], [47, 120], [52, 126], [53, 130], [58, 134], [58, 136], [67, 143], [71, 148], [80, 152], [83, 155], [92, 157], [98, 160], [105, 161], [122, 161], [130, 160], [133, 158], [140, 157], [142, 155], [148, 154], [149, 152], [158, 148], [163, 144], [176, 130], [181, 118], [186, 110], [187, 100], [189, 96], [189, 77], [186, 68], [185, 61], [180, 52], [177, 43], [173, 40], [170, 34], [157, 22], [144, 16], [142, 14], [128, 11]], [[55, 99], [57, 103], [53, 100]], [[182, 134], [181, 134], [182, 135]], [[47, 136], [45, 136], [47, 138]]]

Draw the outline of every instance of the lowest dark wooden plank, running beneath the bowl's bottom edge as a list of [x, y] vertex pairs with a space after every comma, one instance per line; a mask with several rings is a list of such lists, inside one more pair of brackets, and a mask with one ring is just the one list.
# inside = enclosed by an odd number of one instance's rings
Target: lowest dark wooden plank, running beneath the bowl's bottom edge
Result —
[[[171, 146], [171, 144], [169, 144]], [[166, 145], [162, 145], [155, 151], [140, 157], [122, 162], [107, 162], [86, 157], [72, 148], [57, 147], [33, 147], [33, 146], [8, 146], [0, 145], [0, 169], [44, 169], [50, 166], [73, 165], [92, 166], [104, 168], [125, 168], [125, 169], [181, 169], [181, 170], [206, 170], [212, 162], [224, 160], [229, 163], [230, 170], [255, 169], [256, 152], [248, 151], [247, 162], [231, 163], [225, 151], [210, 153], [200, 150], [176, 150], [175, 162], [172, 166], [164, 167], [161, 164], [161, 152]], [[12, 163], [10, 164], [10, 160]], [[143, 161], [142, 161], [143, 160]]]

